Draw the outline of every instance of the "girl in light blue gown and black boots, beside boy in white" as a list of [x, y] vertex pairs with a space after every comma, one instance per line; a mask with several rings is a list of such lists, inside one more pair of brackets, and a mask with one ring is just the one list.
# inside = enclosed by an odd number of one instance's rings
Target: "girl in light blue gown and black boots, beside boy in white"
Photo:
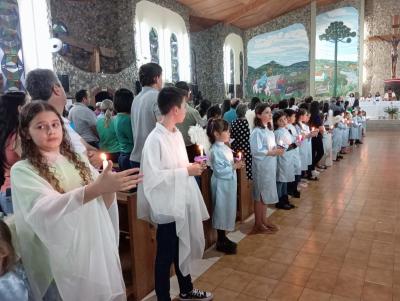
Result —
[[226, 231], [235, 229], [237, 205], [236, 169], [244, 167], [241, 158], [236, 162], [232, 150], [226, 145], [230, 139], [229, 123], [223, 119], [210, 119], [207, 135], [212, 144], [210, 163], [211, 195], [213, 200], [213, 228], [217, 230], [217, 250], [236, 254], [236, 243], [226, 237]]

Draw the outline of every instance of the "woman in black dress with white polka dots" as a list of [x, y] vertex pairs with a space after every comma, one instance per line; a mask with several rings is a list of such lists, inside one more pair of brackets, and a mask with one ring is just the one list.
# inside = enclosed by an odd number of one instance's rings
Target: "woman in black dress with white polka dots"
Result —
[[251, 180], [251, 152], [250, 152], [250, 129], [246, 119], [247, 105], [241, 103], [236, 108], [237, 119], [231, 125], [232, 150], [237, 154], [240, 152], [246, 162], [247, 178]]

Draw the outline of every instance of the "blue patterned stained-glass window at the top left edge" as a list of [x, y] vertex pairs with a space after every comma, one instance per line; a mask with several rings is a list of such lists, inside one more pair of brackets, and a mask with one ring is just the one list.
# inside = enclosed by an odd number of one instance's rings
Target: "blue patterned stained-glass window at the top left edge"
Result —
[[0, 1], [0, 93], [24, 90], [24, 64], [17, 0]]

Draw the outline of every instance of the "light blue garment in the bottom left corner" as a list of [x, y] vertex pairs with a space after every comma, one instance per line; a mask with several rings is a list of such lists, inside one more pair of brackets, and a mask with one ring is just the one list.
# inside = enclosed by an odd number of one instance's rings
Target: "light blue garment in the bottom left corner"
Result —
[[21, 264], [0, 277], [0, 300], [1, 301], [31, 301], [33, 296], [26, 277], [25, 270]]

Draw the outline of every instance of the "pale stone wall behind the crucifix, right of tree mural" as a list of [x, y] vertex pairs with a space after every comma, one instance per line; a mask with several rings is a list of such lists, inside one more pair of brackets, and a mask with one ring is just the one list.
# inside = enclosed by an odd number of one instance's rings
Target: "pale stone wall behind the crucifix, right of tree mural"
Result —
[[[398, 0], [365, 0], [366, 40], [368, 36], [390, 34], [392, 31], [391, 16], [400, 15]], [[381, 94], [384, 80], [391, 78], [391, 45], [386, 42], [366, 41], [364, 48], [364, 68], [366, 79], [363, 94], [369, 92]], [[397, 63], [397, 78], [400, 78], [400, 64]]]

